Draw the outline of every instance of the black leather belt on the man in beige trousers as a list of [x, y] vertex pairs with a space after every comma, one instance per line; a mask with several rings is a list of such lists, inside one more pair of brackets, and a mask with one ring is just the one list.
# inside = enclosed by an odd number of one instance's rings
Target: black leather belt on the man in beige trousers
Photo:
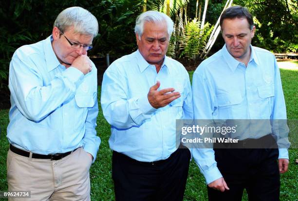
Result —
[[[25, 156], [25, 157], [29, 157], [30, 156], [30, 152], [25, 151], [25, 150], [22, 150], [22, 149], [19, 149], [19, 148], [15, 147], [15, 146], [10, 145], [9, 146], [9, 149], [12, 152], [14, 152], [16, 154], [19, 154], [21, 156]], [[49, 154], [49, 155], [42, 155], [42, 154], [32, 153], [32, 158], [34, 158], [34, 159], [51, 159], [51, 161], [57, 161], [57, 160], [60, 160], [60, 159], [62, 159], [64, 157], [68, 156], [69, 154], [71, 154], [75, 150], [69, 151], [69, 152], [66, 152], [66, 153], [56, 153], [56, 154]]]

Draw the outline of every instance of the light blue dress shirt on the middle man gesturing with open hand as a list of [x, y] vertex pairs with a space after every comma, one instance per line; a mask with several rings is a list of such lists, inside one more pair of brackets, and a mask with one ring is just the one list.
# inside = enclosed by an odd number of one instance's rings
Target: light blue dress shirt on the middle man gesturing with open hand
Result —
[[[161, 83], [158, 90], [172, 87], [181, 97], [154, 109], [147, 94], [156, 81]], [[137, 50], [114, 61], [104, 73], [101, 107], [112, 125], [112, 150], [142, 162], [167, 159], [177, 149], [176, 119], [193, 119], [188, 73], [169, 57], [157, 73]]]

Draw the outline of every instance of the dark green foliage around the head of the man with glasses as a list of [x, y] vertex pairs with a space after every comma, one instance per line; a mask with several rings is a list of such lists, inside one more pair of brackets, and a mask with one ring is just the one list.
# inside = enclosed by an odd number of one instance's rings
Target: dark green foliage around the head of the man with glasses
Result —
[[57, 15], [65, 8], [80, 6], [98, 20], [99, 34], [88, 55], [124, 55], [135, 48], [135, 18], [143, 0], [10, 0], [1, 2], [0, 87], [7, 84], [9, 62], [22, 45], [50, 36]]

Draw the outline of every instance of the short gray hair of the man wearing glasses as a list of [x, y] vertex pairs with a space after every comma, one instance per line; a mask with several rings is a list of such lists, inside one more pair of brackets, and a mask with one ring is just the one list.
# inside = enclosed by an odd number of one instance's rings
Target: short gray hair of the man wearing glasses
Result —
[[57, 16], [54, 27], [65, 32], [69, 27], [74, 26], [75, 33], [97, 36], [97, 19], [86, 9], [81, 7], [70, 7], [63, 10]]

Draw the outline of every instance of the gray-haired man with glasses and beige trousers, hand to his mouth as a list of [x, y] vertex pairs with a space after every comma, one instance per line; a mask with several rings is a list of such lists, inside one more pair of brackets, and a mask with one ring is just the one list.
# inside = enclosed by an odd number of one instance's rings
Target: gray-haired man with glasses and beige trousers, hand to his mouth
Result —
[[90, 200], [100, 138], [97, 73], [87, 51], [97, 33], [89, 11], [67, 8], [50, 37], [20, 47], [10, 62], [8, 190], [31, 191], [30, 201]]

